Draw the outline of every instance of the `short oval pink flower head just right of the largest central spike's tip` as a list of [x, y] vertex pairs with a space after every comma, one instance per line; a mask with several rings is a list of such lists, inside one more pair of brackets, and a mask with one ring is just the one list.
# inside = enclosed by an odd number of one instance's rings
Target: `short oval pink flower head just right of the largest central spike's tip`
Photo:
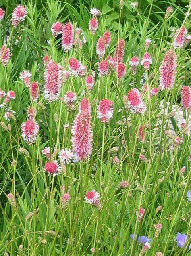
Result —
[[113, 101], [108, 99], [102, 99], [97, 108], [98, 119], [102, 123], [108, 123], [110, 119], [113, 118]]

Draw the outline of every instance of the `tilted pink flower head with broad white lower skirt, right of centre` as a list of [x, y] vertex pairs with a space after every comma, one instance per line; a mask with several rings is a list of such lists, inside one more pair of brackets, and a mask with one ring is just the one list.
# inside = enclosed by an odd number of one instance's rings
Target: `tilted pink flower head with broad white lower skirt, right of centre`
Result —
[[128, 97], [128, 107], [133, 113], [142, 113], [144, 115], [146, 106], [142, 100], [141, 93], [137, 88], [132, 89], [127, 94]]

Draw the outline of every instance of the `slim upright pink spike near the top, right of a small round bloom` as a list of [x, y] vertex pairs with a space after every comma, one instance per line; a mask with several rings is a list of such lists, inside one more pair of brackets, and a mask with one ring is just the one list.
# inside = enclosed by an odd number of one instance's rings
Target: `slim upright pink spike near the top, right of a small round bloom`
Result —
[[65, 52], [72, 49], [74, 43], [74, 27], [70, 23], [66, 23], [62, 32], [62, 48]]

